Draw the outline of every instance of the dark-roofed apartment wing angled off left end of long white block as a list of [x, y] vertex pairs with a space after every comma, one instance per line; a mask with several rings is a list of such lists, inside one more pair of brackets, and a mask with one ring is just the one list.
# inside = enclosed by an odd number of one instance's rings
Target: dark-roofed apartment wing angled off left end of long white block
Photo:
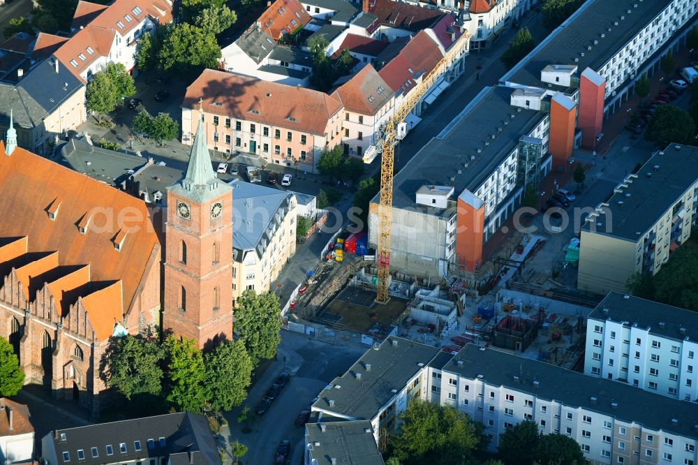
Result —
[[439, 355], [438, 348], [388, 337], [334, 378], [311, 410], [318, 413], [320, 423], [369, 420], [374, 441], [385, 450], [397, 415], [413, 397], [426, 399], [428, 365]]

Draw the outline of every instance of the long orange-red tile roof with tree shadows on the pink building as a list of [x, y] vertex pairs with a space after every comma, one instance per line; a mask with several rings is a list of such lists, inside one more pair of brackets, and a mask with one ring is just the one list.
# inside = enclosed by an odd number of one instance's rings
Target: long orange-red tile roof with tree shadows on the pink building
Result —
[[258, 80], [212, 69], [186, 89], [183, 108], [203, 108], [207, 113], [325, 135], [327, 120], [339, 112], [341, 102], [303, 87]]

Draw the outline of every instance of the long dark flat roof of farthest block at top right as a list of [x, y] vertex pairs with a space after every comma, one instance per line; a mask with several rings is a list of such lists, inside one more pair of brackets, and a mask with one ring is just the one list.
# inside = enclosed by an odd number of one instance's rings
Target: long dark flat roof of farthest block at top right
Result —
[[[598, 71], [669, 3], [671, 0], [588, 0], [501, 81], [540, 86], [540, 72], [549, 64], [569, 64], [578, 66], [579, 70], [589, 67]], [[628, 14], [628, 10], [632, 13]], [[575, 58], [579, 61], [575, 62]]]

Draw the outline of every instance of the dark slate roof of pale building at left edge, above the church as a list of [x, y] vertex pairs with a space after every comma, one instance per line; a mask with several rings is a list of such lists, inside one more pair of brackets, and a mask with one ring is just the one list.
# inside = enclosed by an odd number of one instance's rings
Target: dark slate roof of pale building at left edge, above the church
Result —
[[39, 126], [82, 85], [65, 66], [59, 66], [56, 73], [47, 59], [26, 73], [18, 84], [0, 83], [0, 111], [8, 121], [10, 109], [13, 110], [15, 124], [23, 128]]

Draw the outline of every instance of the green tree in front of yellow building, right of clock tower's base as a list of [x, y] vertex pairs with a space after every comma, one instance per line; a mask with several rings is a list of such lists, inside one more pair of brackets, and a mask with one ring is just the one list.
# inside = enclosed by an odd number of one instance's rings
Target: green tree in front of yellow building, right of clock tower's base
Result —
[[237, 300], [235, 331], [247, 348], [255, 366], [276, 354], [281, 342], [281, 307], [274, 293], [245, 290]]

